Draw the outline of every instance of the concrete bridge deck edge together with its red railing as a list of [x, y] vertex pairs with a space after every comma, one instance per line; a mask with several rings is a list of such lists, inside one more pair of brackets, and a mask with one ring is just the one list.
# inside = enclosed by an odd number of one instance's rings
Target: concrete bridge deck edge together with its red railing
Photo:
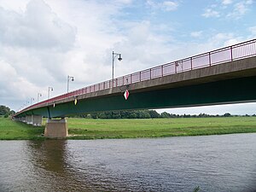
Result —
[[38, 102], [21, 110], [27, 111], [92, 98], [121, 95], [126, 89], [131, 94], [165, 90], [193, 84], [206, 84], [227, 79], [256, 75], [256, 39], [223, 49], [166, 63], [118, 79], [90, 85], [80, 90]]

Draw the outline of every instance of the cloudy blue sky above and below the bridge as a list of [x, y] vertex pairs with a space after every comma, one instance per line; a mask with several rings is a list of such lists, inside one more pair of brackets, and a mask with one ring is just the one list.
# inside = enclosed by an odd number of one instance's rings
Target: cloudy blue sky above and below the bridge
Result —
[[[255, 0], [0, 0], [0, 105], [70, 90], [256, 38]], [[33, 99], [34, 101], [33, 101]], [[161, 109], [256, 113], [256, 103]]]

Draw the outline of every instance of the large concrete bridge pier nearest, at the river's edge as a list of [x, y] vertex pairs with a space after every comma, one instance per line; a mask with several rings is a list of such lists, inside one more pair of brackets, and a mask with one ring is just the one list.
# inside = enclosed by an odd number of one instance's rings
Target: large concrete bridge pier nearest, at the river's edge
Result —
[[47, 119], [44, 137], [65, 138], [67, 136], [67, 119]]

